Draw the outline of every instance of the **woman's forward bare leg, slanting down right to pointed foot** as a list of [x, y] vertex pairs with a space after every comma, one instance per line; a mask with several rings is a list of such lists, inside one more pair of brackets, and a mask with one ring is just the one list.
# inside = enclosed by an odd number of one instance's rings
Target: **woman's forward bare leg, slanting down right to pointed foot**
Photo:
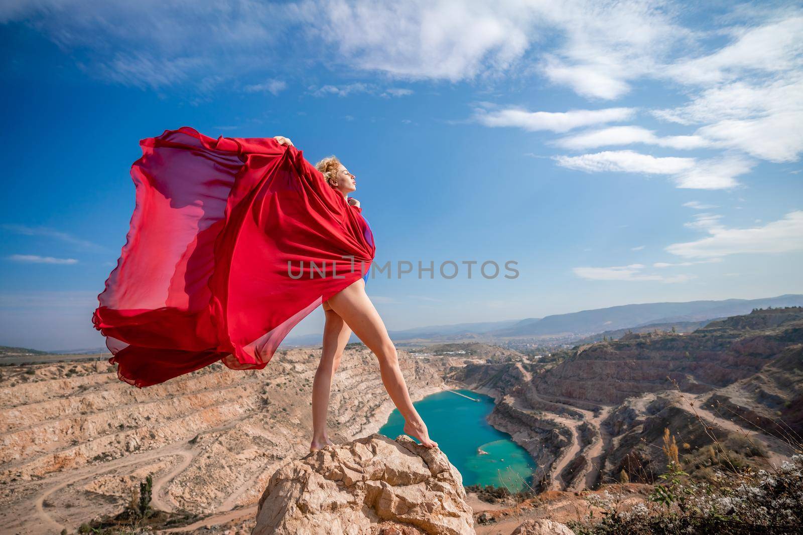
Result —
[[430, 440], [424, 420], [413, 407], [402, 369], [399, 367], [396, 347], [393, 346], [377, 309], [373, 307], [368, 294], [365, 294], [365, 281], [357, 279], [357, 282], [329, 298], [328, 303], [365, 346], [377, 355], [385, 390], [404, 416], [404, 432], [417, 438], [427, 448], [437, 446], [436, 442]]

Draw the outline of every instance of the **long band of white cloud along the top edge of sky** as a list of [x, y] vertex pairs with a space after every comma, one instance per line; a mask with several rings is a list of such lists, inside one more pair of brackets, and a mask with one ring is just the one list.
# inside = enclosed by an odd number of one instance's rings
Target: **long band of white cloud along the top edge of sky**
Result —
[[[238, 78], [292, 63], [291, 52], [402, 79], [459, 81], [537, 65], [552, 82], [605, 99], [623, 95], [689, 34], [663, 6], [640, 0], [220, 0], [196, 2], [189, 19], [186, 3], [172, 0], [3, 3], [0, 22], [18, 21], [65, 49], [88, 51], [93, 71], [139, 86], [209, 72]], [[544, 46], [544, 36], [556, 44]], [[286, 47], [290, 39], [297, 46]]]

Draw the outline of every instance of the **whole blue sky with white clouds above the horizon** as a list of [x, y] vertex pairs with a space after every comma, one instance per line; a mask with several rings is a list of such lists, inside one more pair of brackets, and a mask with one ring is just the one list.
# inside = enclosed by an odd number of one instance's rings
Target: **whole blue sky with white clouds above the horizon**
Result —
[[339, 156], [390, 329], [803, 293], [799, 3], [492, 3], [3, 2], [0, 344], [100, 346], [138, 141], [181, 126]]

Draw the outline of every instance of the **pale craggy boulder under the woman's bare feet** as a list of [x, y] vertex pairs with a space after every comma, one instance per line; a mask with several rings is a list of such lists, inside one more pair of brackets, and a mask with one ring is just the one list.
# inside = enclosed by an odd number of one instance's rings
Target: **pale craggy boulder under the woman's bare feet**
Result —
[[253, 533], [463, 535], [474, 533], [474, 521], [463, 478], [443, 452], [374, 434], [279, 468]]

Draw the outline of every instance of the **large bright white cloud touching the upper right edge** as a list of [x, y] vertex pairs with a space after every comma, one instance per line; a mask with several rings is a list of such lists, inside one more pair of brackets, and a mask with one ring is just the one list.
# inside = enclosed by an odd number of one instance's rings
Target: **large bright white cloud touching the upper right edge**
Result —
[[667, 66], [664, 74], [700, 91], [691, 102], [655, 110], [719, 146], [773, 162], [803, 152], [803, 16], [766, 10], [763, 22], [728, 28], [731, 43]]

